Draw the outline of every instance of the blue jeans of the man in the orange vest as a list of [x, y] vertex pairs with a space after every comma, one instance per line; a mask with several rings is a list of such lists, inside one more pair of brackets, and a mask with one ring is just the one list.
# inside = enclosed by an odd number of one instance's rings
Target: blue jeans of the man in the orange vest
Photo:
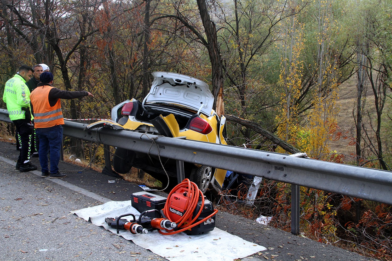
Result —
[[36, 128], [36, 135], [40, 139], [38, 155], [42, 173], [48, 169], [48, 149], [50, 149], [50, 173], [57, 174], [60, 161], [60, 149], [63, 140], [63, 126], [56, 125], [49, 128]]

